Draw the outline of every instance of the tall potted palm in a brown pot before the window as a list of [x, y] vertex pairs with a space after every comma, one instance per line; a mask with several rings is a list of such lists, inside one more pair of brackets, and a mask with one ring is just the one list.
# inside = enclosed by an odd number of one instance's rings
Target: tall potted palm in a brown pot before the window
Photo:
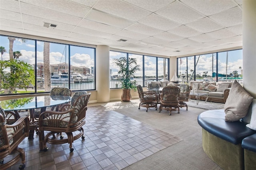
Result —
[[118, 74], [122, 76], [120, 79], [121, 87], [123, 90], [121, 100], [130, 101], [131, 89], [136, 91], [136, 84], [131, 81], [131, 77], [134, 77], [136, 71], [140, 71], [140, 65], [137, 65], [136, 58], [120, 57], [119, 59], [113, 59], [114, 63], [119, 67]]

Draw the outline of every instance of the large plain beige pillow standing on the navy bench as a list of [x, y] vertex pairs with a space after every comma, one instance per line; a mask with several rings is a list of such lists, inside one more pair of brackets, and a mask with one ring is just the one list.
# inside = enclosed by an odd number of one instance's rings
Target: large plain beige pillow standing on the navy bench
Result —
[[225, 121], [239, 121], [245, 117], [253, 97], [235, 80], [224, 105]]

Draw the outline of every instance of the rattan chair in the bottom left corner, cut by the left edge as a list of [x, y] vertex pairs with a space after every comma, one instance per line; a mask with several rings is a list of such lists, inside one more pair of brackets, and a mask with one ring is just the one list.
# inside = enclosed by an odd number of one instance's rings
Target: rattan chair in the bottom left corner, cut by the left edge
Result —
[[[10, 116], [10, 113], [8, 115]], [[18, 145], [28, 136], [29, 119], [28, 117], [21, 117], [12, 123], [12, 125], [8, 125], [7, 122], [5, 112], [0, 107], [0, 169], [5, 170], [10, 168], [19, 162], [20, 159], [21, 164], [19, 169], [24, 169], [26, 162], [25, 151], [22, 148], [18, 148]], [[16, 152], [18, 154], [15, 154], [11, 160], [8, 158], [7, 162], [4, 161], [6, 156]]]

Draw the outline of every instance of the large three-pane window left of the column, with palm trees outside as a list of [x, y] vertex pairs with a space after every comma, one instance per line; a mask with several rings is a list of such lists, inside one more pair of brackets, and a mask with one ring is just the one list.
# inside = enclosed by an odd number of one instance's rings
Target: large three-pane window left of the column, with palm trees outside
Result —
[[8, 36], [0, 42], [1, 94], [95, 89], [95, 48]]

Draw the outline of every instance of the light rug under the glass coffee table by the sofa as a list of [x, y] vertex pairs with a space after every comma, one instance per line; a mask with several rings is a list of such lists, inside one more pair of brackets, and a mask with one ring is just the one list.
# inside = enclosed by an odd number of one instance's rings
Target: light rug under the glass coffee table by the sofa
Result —
[[214, 109], [223, 109], [224, 103], [215, 103], [211, 101], [203, 101], [200, 100], [198, 104], [196, 104], [196, 100], [190, 100], [187, 103], [188, 107], [196, 107], [199, 109], [205, 109], [205, 110], [214, 110]]

